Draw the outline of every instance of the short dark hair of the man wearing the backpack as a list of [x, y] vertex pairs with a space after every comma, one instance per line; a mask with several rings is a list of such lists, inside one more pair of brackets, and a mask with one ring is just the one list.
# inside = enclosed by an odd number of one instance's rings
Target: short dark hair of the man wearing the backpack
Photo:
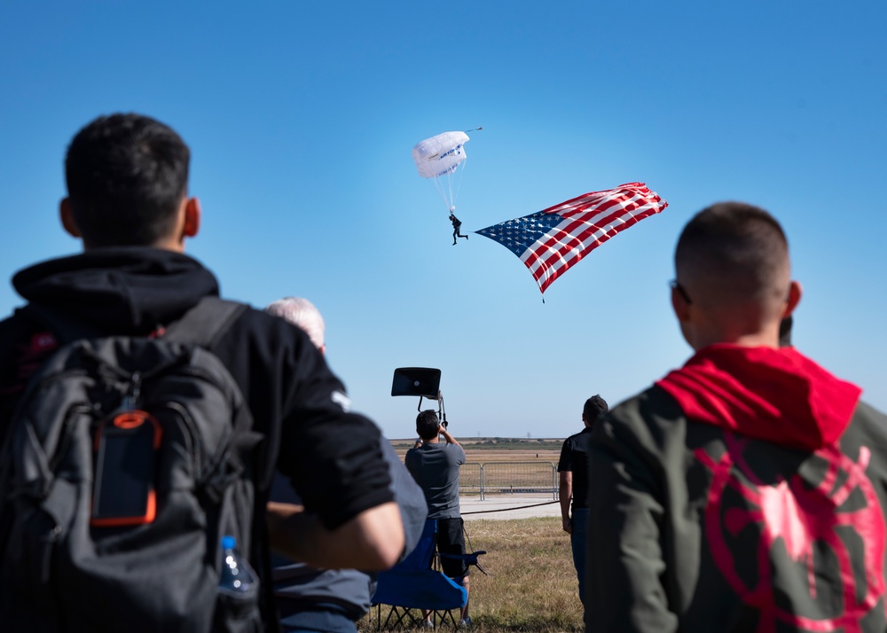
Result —
[[175, 130], [141, 114], [100, 116], [65, 158], [67, 194], [86, 246], [152, 246], [173, 231], [191, 152]]

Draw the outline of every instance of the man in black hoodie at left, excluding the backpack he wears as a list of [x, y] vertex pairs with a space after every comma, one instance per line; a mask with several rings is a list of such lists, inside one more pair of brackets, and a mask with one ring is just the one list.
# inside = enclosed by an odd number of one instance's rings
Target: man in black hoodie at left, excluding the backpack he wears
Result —
[[[187, 189], [189, 162], [188, 146], [160, 121], [139, 114], [92, 121], [68, 147], [67, 197], [59, 208], [83, 252], [21, 270], [12, 279], [16, 291], [42, 313], [100, 336], [160, 333], [217, 295], [216, 277], [184, 254], [200, 229], [200, 203]], [[67, 342], [47, 330], [20, 315], [0, 322], [0, 439], [27, 379]], [[231, 373], [263, 436], [255, 516], [271, 545], [317, 567], [391, 567], [404, 551], [404, 527], [379, 429], [349, 412], [345, 387], [308, 336], [247, 309], [209, 351]], [[279, 504], [265, 513], [275, 468], [306, 512]], [[263, 567], [262, 551], [246, 553], [253, 567]], [[263, 616], [274, 617], [267, 609]]]

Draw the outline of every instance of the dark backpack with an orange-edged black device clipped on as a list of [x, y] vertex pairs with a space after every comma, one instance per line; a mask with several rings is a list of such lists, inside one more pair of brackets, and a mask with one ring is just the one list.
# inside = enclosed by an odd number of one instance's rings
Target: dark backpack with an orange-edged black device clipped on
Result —
[[250, 551], [260, 436], [207, 348], [244, 309], [74, 340], [32, 377], [0, 453], [0, 629], [262, 629], [258, 578], [218, 590], [223, 536]]

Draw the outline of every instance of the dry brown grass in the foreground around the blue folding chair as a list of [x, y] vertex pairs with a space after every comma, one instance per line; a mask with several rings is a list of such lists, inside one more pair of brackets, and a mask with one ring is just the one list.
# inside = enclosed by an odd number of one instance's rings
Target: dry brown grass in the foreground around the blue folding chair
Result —
[[[560, 519], [474, 520], [466, 527], [470, 549], [488, 552], [481, 562], [490, 575], [472, 570], [476, 631], [584, 630], [569, 536]], [[372, 613], [358, 630], [376, 629]], [[386, 613], [383, 607], [383, 621]]]

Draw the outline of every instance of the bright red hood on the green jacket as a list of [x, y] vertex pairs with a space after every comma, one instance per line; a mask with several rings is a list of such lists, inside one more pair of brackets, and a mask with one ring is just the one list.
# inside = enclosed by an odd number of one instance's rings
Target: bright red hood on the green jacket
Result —
[[836, 442], [862, 393], [795, 348], [726, 343], [697, 352], [656, 384], [688, 419], [805, 450]]

